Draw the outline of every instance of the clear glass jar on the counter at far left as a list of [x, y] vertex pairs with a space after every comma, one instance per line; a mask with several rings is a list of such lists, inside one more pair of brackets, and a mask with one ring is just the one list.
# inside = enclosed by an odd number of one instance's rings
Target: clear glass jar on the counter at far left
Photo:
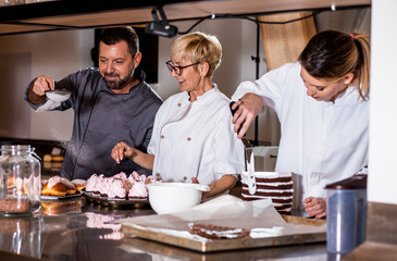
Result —
[[41, 166], [29, 145], [3, 145], [0, 156], [0, 214], [40, 209]]

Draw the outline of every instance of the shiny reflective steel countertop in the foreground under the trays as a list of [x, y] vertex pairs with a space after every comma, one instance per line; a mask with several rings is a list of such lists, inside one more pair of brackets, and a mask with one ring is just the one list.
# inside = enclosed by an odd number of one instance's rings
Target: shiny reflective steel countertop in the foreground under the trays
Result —
[[[51, 202], [33, 216], [0, 219], [0, 260], [338, 260], [325, 243], [199, 253], [139, 238], [124, 238], [124, 217], [154, 214], [148, 204], [112, 209], [83, 198]], [[135, 206], [137, 207], [137, 206]], [[13, 256], [17, 253], [18, 256]]]

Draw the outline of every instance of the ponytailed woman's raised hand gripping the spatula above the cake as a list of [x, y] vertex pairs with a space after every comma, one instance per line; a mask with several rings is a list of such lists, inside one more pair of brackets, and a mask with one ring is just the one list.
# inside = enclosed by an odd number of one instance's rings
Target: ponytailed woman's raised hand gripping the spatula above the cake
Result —
[[243, 138], [249, 125], [262, 110], [263, 99], [255, 94], [245, 94], [241, 99], [236, 101], [232, 110], [238, 108], [233, 116], [234, 130], [238, 132], [238, 138]]

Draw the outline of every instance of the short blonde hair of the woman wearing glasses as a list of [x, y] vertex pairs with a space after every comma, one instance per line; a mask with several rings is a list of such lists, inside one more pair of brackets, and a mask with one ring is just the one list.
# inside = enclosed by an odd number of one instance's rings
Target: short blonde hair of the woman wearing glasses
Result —
[[177, 38], [171, 47], [170, 57], [173, 61], [188, 59], [191, 63], [207, 62], [207, 77], [212, 78], [213, 72], [221, 64], [222, 46], [215, 36], [195, 32]]

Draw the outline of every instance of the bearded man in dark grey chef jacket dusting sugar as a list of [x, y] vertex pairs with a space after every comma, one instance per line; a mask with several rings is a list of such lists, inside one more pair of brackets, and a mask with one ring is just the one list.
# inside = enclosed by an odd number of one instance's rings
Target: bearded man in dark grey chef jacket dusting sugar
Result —
[[[58, 82], [39, 76], [27, 86], [25, 100], [34, 110], [74, 110], [62, 177], [87, 179], [92, 174], [113, 176], [133, 171], [151, 174], [133, 161], [117, 164], [111, 158], [120, 140], [146, 151], [162, 103], [145, 82], [140, 60], [139, 39], [132, 27], [107, 28], [99, 39], [98, 69], [80, 70]], [[54, 89], [72, 95], [65, 101], [48, 99], [46, 91]]]

